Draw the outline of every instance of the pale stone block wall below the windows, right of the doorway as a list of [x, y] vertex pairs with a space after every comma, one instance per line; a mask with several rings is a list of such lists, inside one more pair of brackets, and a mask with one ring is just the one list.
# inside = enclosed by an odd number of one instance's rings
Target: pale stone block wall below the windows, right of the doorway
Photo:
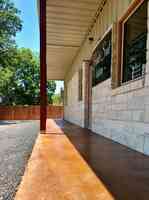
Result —
[[93, 88], [93, 132], [149, 155], [149, 87], [141, 79], [111, 90], [110, 82]]

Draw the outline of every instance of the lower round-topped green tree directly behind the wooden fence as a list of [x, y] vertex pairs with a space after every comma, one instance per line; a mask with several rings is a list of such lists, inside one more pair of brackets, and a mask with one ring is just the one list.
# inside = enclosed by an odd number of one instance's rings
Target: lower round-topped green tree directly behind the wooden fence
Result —
[[[0, 70], [0, 79], [0, 96], [3, 105], [37, 105], [40, 103], [39, 56], [32, 53], [30, 49], [18, 49], [13, 57], [12, 66]], [[49, 103], [52, 103], [55, 89], [55, 82], [48, 81]]]

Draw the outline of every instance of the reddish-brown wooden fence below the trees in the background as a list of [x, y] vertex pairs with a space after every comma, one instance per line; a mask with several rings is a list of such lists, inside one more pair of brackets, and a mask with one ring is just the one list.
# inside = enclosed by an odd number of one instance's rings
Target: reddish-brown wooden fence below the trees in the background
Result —
[[[47, 106], [47, 118], [63, 118], [63, 106]], [[0, 120], [39, 120], [40, 106], [0, 106]]]

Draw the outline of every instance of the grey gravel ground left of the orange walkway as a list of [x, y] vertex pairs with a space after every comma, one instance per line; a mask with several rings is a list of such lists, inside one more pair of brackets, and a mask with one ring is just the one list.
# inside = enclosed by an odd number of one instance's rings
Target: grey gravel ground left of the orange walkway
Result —
[[0, 200], [12, 200], [39, 133], [39, 121], [0, 121]]

